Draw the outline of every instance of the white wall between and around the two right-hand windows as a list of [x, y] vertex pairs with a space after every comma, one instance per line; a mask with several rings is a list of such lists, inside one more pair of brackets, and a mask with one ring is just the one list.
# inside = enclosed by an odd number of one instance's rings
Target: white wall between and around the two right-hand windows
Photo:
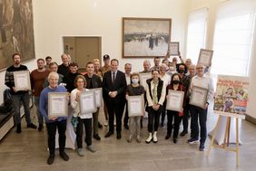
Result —
[[[212, 49], [213, 46], [213, 34], [214, 34], [214, 25], [216, 20], [216, 14], [218, 11], [218, 5], [222, 4], [222, 2], [232, 1], [232, 0], [191, 0], [188, 6], [188, 11], [191, 12], [196, 9], [200, 9], [203, 7], [208, 7], [209, 15], [208, 15], [208, 25], [207, 25], [207, 37], [206, 37], [206, 48]], [[235, 1], [235, 0], [233, 0]], [[253, 2], [256, 9], [256, 1], [255, 0], [244, 0]], [[256, 28], [256, 24], [255, 24]], [[256, 33], [253, 34], [253, 43], [252, 43], [252, 56], [251, 56], [251, 68], [250, 68], [250, 82], [251, 88], [249, 90], [249, 103], [247, 114], [252, 118], [256, 119]]]

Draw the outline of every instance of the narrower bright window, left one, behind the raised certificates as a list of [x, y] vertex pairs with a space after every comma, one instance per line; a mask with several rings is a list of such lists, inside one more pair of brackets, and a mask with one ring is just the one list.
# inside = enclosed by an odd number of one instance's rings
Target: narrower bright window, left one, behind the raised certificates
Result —
[[192, 63], [197, 63], [200, 49], [205, 47], [207, 15], [207, 8], [189, 14], [186, 58], [192, 59]]

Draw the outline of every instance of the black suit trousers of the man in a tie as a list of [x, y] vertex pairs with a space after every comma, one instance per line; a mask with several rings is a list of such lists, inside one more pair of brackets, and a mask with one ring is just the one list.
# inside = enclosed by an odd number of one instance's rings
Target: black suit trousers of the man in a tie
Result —
[[107, 101], [108, 110], [108, 124], [109, 131], [113, 132], [113, 119], [116, 119], [116, 131], [121, 132], [122, 130], [122, 117], [125, 103], [113, 103], [113, 101]]

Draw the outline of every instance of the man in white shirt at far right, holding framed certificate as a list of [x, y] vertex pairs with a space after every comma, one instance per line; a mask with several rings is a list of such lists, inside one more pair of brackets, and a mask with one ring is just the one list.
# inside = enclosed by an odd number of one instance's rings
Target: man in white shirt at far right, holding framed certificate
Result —
[[200, 124], [200, 146], [199, 150], [204, 151], [204, 143], [207, 136], [206, 120], [207, 120], [207, 109], [210, 102], [213, 100], [213, 81], [212, 78], [204, 74], [204, 65], [196, 65], [197, 75], [192, 77], [190, 86], [190, 109], [191, 109], [191, 138], [188, 139], [188, 143], [192, 144], [199, 141], [199, 127], [198, 119]]

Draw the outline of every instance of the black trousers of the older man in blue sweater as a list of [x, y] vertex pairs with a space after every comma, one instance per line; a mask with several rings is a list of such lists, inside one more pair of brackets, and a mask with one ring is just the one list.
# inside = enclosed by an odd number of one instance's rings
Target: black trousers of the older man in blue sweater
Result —
[[59, 151], [60, 153], [64, 152], [66, 119], [62, 121], [54, 121], [51, 123], [46, 123], [46, 128], [48, 132], [48, 147], [49, 147], [50, 155], [54, 156], [54, 153], [55, 153], [56, 128], [58, 128], [58, 133], [59, 133]]

